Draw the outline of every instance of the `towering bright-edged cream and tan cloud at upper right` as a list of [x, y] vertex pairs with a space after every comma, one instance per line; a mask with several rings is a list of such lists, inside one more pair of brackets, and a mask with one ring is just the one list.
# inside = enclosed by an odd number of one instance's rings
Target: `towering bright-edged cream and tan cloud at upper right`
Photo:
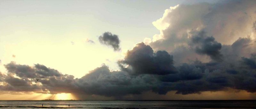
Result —
[[[180, 51], [177, 49], [181, 47], [189, 48], [191, 36], [200, 31], [204, 31], [205, 36], [212, 36], [221, 45], [231, 45], [239, 37], [249, 36], [255, 39], [255, 4], [255, 1], [248, 0], [180, 4], [170, 7], [164, 11], [162, 18], [153, 22], [160, 34], [154, 35], [149, 45], [156, 51], [165, 50], [174, 54], [173, 51]], [[193, 54], [190, 49], [187, 50], [187, 53]], [[194, 54], [184, 58], [192, 60], [195, 57], [201, 61], [207, 60]], [[175, 60], [179, 61], [174, 58]]]

